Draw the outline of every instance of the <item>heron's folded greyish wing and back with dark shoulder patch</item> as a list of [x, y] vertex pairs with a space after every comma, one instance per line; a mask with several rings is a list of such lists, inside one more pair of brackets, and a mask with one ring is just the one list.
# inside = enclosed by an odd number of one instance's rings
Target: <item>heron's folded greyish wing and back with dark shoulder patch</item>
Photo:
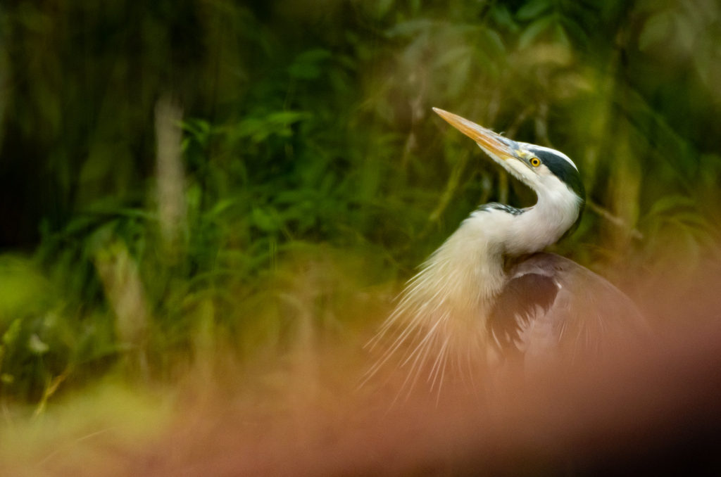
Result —
[[525, 361], [548, 355], [599, 354], [638, 341], [649, 328], [633, 301], [603, 277], [555, 254], [512, 264], [488, 326], [505, 351]]

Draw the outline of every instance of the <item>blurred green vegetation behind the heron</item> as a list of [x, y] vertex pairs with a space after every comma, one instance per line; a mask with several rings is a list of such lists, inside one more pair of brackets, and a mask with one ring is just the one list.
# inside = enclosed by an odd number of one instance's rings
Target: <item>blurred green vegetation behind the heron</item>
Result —
[[433, 106], [574, 159], [557, 251], [686, 276], [719, 85], [715, 0], [3, 1], [0, 400], [361, 342], [479, 203], [534, 200]]

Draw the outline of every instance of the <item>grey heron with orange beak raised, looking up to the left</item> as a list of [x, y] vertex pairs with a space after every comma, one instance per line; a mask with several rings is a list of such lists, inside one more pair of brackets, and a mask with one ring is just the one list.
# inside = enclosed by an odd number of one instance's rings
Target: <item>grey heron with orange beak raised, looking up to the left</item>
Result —
[[538, 200], [527, 208], [481, 205], [461, 223], [408, 282], [373, 339], [390, 336], [376, 367], [401, 352], [402, 365], [416, 378], [426, 368], [435, 383], [449, 364], [462, 365], [459, 356], [469, 362], [513, 358], [534, 367], [603, 352], [644, 334], [645, 321], [627, 295], [570, 259], [542, 252], [572, 231], [583, 213], [585, 190], [573, 161], [433, 110]]

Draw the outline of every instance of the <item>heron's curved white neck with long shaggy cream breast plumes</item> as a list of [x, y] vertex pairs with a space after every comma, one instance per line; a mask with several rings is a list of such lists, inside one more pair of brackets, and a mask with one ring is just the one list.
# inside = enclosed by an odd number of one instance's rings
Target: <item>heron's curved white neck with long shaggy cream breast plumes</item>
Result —
[[[553, 180], [557, 179], [549, 179]], [[371, 375], [406, 345], [410, 349], [402, 365], [410, 365], [416, 378], [424, 365], [430, 365], [433, 383], [443, 375], [448, 360], [461, 359], [458, 352], [465, 355], [466, 364], [472, 355], [485, 362], [485, 322], [507, 281], [505, 257], [544, 249], [580, 214], [583, 200], [565, 185], [557, 185], [534, 187], [539, 200], [531, 208], [486, 205], [461, 223], [408, 282], [398, 306], [373, 339], [377, 343], [399, 326], [399, 334]]]

